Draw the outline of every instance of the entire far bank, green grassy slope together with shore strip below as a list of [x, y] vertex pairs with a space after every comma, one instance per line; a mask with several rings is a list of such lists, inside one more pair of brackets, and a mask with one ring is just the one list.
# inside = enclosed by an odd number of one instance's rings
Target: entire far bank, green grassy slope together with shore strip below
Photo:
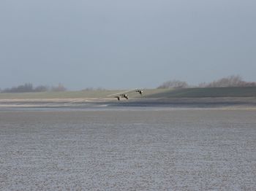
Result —
[[127, 93], [129, 100], [115, 98], [125, 90], [83, 90], [45, 93], [0, 93], [0, 108], [10, 107], [86, 107], [165, 106], [256, 108], [256, 87], [211, 87], [143, 90]]

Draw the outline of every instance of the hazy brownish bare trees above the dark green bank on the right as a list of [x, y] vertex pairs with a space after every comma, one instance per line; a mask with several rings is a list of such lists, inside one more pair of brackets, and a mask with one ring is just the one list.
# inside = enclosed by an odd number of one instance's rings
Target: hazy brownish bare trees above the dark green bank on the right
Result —
[[238, 75], [223, 77], [212, 82], [202, 82], [197, 86], [191, 86], [187, 82], [180, 80], [169, 80], [163, 82], [157, 88], [188, 88], [188, 87], [256, 87], [256, 82], [246, 82]]

